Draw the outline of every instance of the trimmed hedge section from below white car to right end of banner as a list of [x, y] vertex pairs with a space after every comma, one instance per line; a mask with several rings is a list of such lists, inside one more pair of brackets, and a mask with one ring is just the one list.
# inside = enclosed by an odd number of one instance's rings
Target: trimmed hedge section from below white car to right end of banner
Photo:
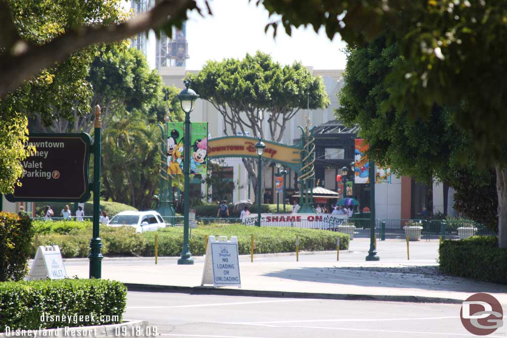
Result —
[[[182, 228], [159, 229], [158, 252], [161, 256], [178, 256], [183, 246]], [[147, 241], [144, 255], [155, 254], [155, 232], [143, 233]], [[299, 236], [299, 248], [303, 251], [336, 250], [336, 239], [340, 237], [340, 249], [348, 249], [348, 235], [315, 229], [284, 228], [284, 227], [245, 227], [240, 224], [198, 226], [192, 229], [190, 251], [194, 255], [203, 255], [204, 236], [238, 237], [239, 254], [250, 253], [251, 234], [255, 243], [254, 253], [294, 252], [296, 236]]]

